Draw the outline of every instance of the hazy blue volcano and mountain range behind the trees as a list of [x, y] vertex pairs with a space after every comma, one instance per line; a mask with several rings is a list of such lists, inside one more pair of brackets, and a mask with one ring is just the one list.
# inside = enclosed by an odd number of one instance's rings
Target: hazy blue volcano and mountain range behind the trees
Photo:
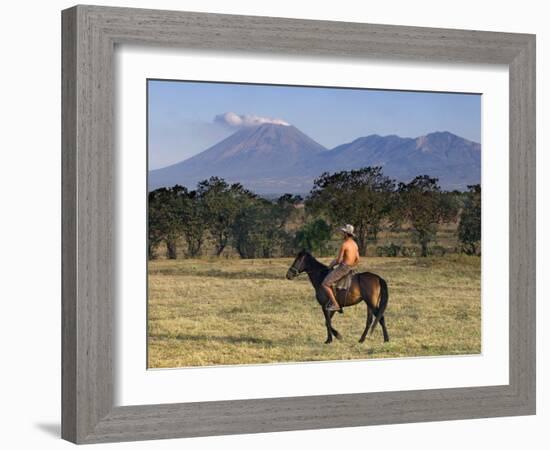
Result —
[[149, 189], [181, 184], [194, 188], [211, 176], [239, 182], [261, 195], [306, 194], [323, 172], [382, 166], [398, 181], [438, 177], [444, 189], [480, 182], [481, 147], [449, 132], [426, 136], [371, 135], [328, 150], [291, 125], [243, 128], [177, 164], [151, 170]]

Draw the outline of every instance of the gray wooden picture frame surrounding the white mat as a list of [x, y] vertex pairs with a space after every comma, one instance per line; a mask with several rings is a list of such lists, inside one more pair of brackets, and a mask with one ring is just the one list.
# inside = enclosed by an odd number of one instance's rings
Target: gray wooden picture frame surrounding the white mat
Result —
[[[75, 443], [535, 413], [535, 36], [177, 11], [62, 12], [62, 437]], [[116, 44], [505, 64], [510, 81], [509, 384], [114, 406]]]

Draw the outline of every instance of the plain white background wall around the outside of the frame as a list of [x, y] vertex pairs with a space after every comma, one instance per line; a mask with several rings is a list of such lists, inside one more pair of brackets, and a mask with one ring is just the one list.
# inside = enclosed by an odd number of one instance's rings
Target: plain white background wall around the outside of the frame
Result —
[[[467, 28], [537, 34], [538, 128], [538, 415], [504, 419], [388, 425], [157, 442], [118, 444], [117, 448], [239, 448], [267, 449], [297, 446], [355, 448], [499, 450], [544, 448], [550, 419], [547, 383], [548, 264], [543, 255], [550, 240], [548, 206], [543, 179], [548, 156], [544, 124], [550, 120], [548, 28], [545, 3], [534, 0], [442, 2], [385, 0], [338, 2], [278, 0], [158, 0], [103, 1], [133, 6], [233, 14], [271, 15]], [[0, 220], [1, 305], [0, 415], [3, 448], [69, 448], [60, 440], [60, 10], [70, 1], [9, 2], [2, 8], [0, 45], [0, 137], [2, 215]], [[29, 202], [29, 199], [31, 200]], [[547, 202], [546, 202], [547, 203]], [[547, 445], [547, 444], [546, 444]], [[98, 446], [106, 447], [106, 446]], [[110, 447], [112, 448], [112, 447]]]

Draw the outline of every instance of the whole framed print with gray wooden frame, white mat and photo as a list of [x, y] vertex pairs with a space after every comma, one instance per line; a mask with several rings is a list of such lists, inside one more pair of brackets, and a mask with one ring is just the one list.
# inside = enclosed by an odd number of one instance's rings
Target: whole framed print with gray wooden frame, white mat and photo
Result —
[[62, 19], [65, 439], [535, 413], [534, 36]]

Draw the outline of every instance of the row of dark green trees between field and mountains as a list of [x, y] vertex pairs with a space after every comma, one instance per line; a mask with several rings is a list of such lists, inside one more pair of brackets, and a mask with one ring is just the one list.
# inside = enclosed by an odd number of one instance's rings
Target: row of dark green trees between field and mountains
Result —
[[334, 227], [344, 223], [354, 225], [362, 255], [378, 241], [382, 227], [395, 231], [407, 225], [427, 256], [438, 227], [457, 220], [462, 251], [480, 251], [479, 185], [467, 192], [442, 191], [438, 179], [428, 175], [396, 183], [380, 167], [324, 173], [305, 199], [285, 194], [268, 200], [239, 183], [211, 177], [194, 190], [176, 185], [151, 191], [148, 211], [151, 259], [162, 243], [173, 259], [180, 253], [200, 256], [206, 242], [217, 256], [228, 248], [241, 258], [293, 256], [300, 248], [322, 255]]

